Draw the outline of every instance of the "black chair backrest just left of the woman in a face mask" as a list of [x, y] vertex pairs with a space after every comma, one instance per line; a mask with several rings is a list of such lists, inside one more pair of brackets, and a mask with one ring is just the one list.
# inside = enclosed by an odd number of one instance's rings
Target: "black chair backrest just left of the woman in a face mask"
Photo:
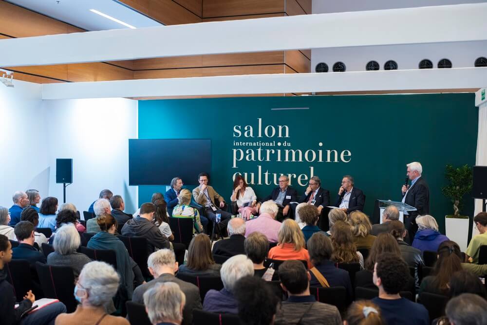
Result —
[[45, 298], [59, 299], [66, 306], [68, 313], [74, 312], [77, 302], [73, 294], [75, 290], [73, 269], [36, 262], [36, 270]]

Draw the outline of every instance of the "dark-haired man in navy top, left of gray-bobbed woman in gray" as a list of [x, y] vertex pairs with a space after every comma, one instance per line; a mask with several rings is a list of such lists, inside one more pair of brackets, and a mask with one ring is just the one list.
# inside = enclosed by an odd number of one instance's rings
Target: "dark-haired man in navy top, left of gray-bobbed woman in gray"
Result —
[[19, 246], [12, 250], [12, 259], [25, 259], [33, 269], [36, 262], [46, 263], [46, 257], [35, 247], [34, 225], [29, 221], [20, 221], [15, 225], [15, 235]]

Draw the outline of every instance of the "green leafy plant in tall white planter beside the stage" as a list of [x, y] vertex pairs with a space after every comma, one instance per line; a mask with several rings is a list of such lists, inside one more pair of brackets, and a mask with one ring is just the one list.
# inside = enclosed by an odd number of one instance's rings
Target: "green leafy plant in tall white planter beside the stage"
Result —
[[464, 195], [472, 189], [472, 168], [468, 165], [454, 168], [448, 164], [445, 170], [445, 177], [449, 184], [442, 187], [441, 192], [453, 204], [453, 214], [445, 216], [446, 235], [450, 240], [458, 243], [462, 252], [465, 252], [468, 242], [469, 218], [468, 216], [462, 216], [460, 211], [463, 207]]

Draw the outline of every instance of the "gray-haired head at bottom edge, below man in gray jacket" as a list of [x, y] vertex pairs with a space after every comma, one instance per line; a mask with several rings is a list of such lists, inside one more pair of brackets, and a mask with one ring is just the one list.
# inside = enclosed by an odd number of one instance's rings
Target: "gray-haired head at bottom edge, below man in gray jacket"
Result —
[[156, 283], [144, 293], [144, 305], [150, 323], [181, 324], [186, 296], [174, 282]]

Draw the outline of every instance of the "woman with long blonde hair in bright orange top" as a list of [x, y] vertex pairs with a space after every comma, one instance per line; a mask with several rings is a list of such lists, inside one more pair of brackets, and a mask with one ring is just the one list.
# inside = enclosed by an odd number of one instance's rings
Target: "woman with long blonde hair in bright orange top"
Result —
[[304, 248], [304, 235], [293, 219], [285, 219], [282, 222], [278, 233], [278, 244], [271, 248], [267, 257], [277, 260], [303, 260], [308, 262], [308, 269], [313, 267], [308, 251]]

